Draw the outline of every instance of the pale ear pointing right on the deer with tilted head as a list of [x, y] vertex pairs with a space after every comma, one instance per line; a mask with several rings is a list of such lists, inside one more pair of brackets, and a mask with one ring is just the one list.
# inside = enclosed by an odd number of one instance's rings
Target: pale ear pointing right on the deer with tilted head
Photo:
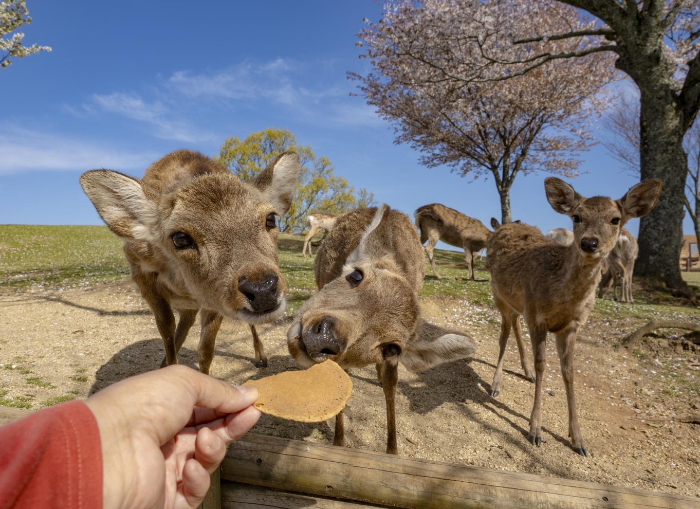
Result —
[[404, 347], [399, 361], [410, 371], [422, 371], [470, 357], [475, 351], [474, 340], [468, 335], [419, 319], [416, 333]]

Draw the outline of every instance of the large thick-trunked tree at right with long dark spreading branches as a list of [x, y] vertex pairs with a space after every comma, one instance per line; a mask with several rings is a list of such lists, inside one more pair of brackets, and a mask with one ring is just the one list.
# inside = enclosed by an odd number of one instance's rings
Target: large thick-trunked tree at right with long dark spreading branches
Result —
[[[594, 16], [594, 25], [542, 25], [531, 37], [506, 34], [501, 39], [508, 47], [505, 52], [484, 43], [489, 37], [486, 30], [474, 32], [470, 36], [489, 64], [474, 67], [472, 81], [496, 86], [552, 62], [575, 65], [591, 55], [613, 55], [615, 67], [640, 91], [640, 175], [664, 182], [659, 204], [640, 220], [635, 273], [671, 288], [685, 288], [678, 264], [687, 177], [682, 144], [700, 106], [700, 0], [556, 1]], [[562, 50], [561, 41], [577, 41], [580, 46]], [[517, 50], [521, 47], [532, 51], [522, 57]]]

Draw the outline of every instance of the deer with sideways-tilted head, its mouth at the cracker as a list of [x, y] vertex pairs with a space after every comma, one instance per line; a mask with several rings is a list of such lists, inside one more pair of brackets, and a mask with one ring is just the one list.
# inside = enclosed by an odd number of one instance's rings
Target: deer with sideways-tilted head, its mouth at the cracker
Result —
[[[293, 316], [291, 356], [304, 367], [330, 359], [344, 370], [375, 365], [386, 400], [386, 452], [398, 454], [395, 393], [398, 365], [410, 371], [472, 356], [474, 340], [421, 318], [418, 291], [425, 263], [408, 216], [381, 207], [337, 218], [316, 252], [318, 293]], [[334, 445], [344, 445], [335, 417]]]

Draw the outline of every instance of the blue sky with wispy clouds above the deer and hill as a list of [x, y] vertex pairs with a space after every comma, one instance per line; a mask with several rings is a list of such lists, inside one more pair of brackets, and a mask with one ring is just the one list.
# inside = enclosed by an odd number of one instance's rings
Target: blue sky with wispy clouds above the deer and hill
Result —
[[[25, 43], [52, 46], [0, 69], [0, 224], [101, 224], [78, 176], [109, 168], [141, 176], [169, 151], [218, 155], [227, 137], [285, 128], [356, 188], [412, 216], [441, 202], [489, 225], [496, 186], [426, 168], [361, 97], [356, 33], [379, 20], [373, 0], [27, 0]], [[602, 128], [597, 134], [605, 136]], [[636, 179], [605, 148], [583, 154], [570, 183], [622, 196]], [[547, 174], [518, 176], [514, 218], [570, 227], [545, 199]], [[638, 220], [628, 223], [636, 234]], [[686, 218], [684, 232], [692, 233]]]

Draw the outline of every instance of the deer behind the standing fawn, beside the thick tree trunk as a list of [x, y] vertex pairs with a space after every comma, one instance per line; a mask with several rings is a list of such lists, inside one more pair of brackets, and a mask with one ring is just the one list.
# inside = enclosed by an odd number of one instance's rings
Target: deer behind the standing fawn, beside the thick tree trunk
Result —
[[612, 296], [617, 300], [617, 283], [619, 281], [619, 300], [622, 302], [634, 302], [632, 298], [632, 274], [634, 262], [639, 254], [637, 239], [625, 228], [617, 237], [615, 247], [612, 248], [601, 272], [603, 277], [598, 285], [598, 297], [603, 298], [612, 286]]

